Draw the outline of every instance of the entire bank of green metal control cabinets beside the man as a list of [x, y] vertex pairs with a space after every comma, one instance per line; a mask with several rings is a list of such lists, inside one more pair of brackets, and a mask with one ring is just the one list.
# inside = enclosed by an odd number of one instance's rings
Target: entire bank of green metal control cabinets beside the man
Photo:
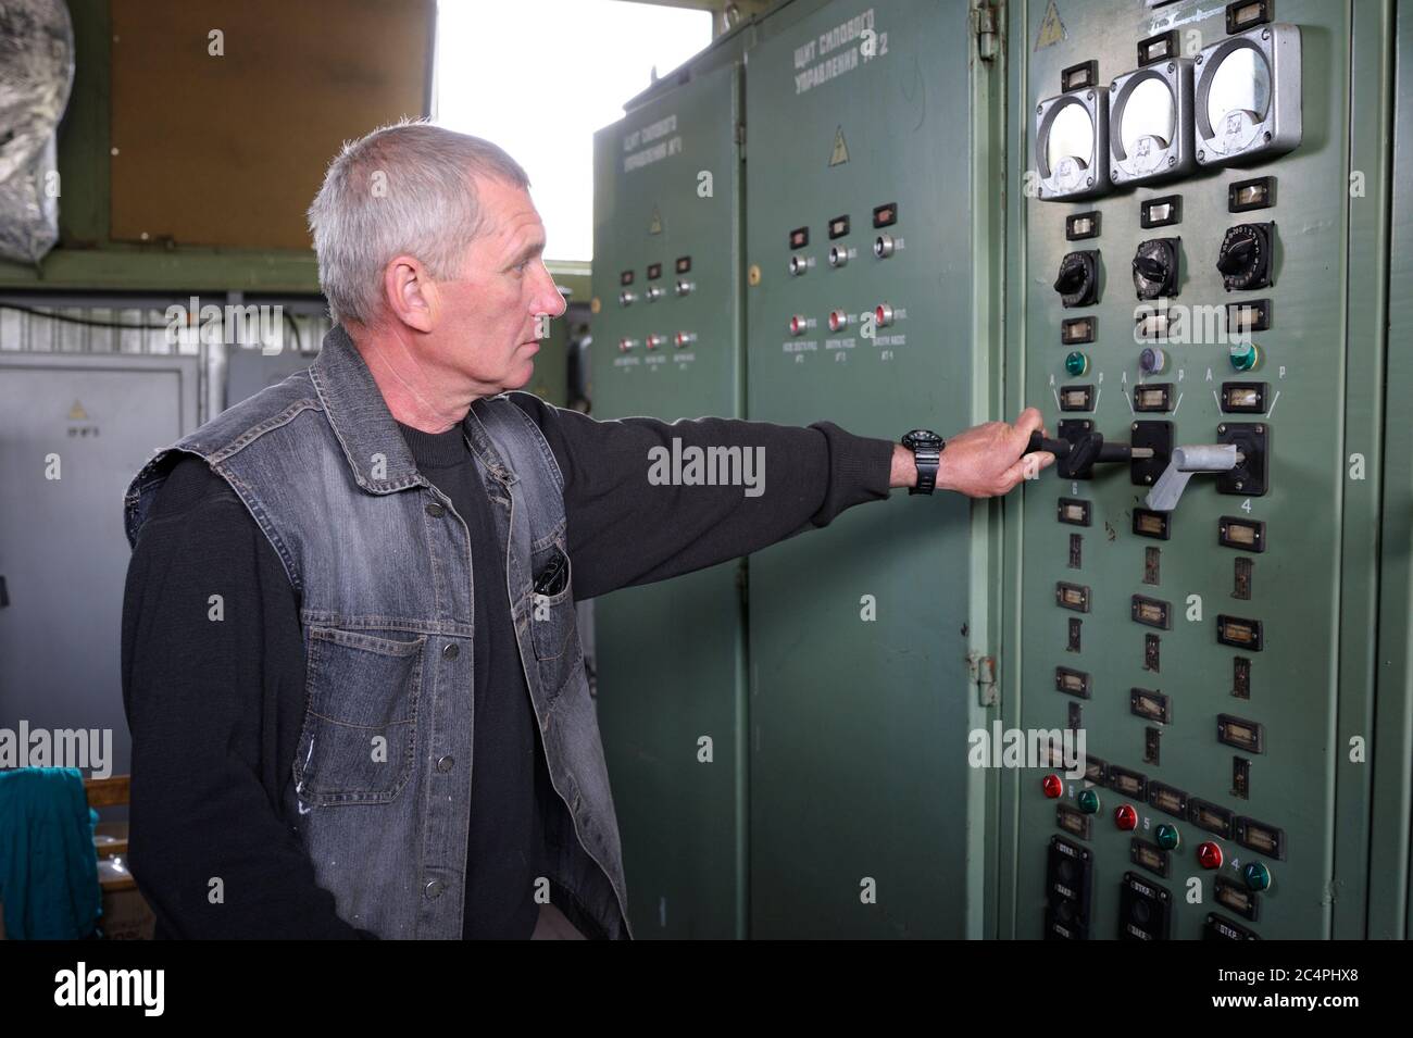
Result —
[[601, 603], [640, 933], [1406, 935], [1399, 23], [793, 0], [599, 134], [599, 417], [1057, 456]]

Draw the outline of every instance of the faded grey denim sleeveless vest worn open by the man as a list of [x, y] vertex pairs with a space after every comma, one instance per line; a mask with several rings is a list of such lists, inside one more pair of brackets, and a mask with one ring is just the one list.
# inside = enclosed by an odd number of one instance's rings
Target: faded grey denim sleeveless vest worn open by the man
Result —
[[[569, 891], [605, 936], [630, 938], [572, 572], [554, 596], [533, 593], [536, 575], [557, 555], [568, 559], [564, 477], [536, 424], [503, 397], [476, 401], [462, 429], [492, 501], [520, 661], [558, 794], [545, 808], [545, 878]], [[319, 885], [341, 918], [382, 938], [459, 938], [479, 621], [465, 523], [417, 472], [339, 326], [311, 369], [143, 467], [124, 500], [134, 547], [177, 452], [199, 455], [230, 484], [300, 599], [307, 702], [284, 809]]]

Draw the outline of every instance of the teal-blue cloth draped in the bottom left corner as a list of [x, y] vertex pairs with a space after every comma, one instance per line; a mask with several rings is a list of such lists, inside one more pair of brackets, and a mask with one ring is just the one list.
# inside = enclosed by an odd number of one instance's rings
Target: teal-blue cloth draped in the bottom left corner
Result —
[[86, 938], [103, 911], [93, 829], [78, 768], [0, 771], [0, 900], [6, 936]]

